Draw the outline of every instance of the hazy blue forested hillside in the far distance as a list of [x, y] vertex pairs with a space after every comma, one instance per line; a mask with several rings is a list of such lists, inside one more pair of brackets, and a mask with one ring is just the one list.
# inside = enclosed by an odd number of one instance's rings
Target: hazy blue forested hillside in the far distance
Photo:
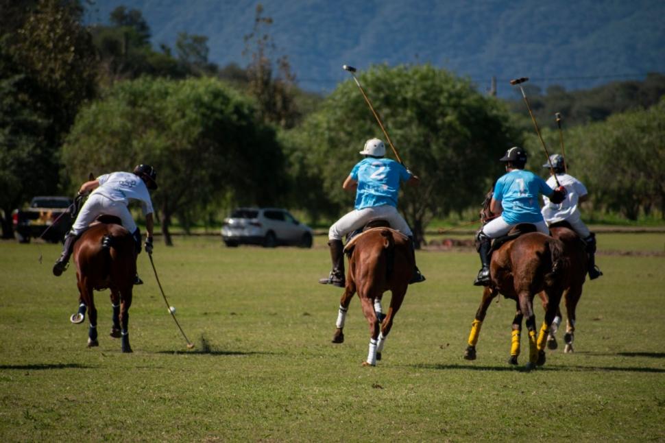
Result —
[[[208, 36], [210, 61], [243, 58], [256, 0], [97, 0], [89, 23], [108, 23], [118, 5], [143, 12], [152, 42], [173, 46], [178, 32]], [[289, 56], [300, 86], [332, 91], [347, 80], [342, 64], [431, 62], [465, 75], [479, 89], [497, 77], [531, 77], [547, 88], [590, 88], [665, 72], [665, 1], [265, 0], [271, 35]]]

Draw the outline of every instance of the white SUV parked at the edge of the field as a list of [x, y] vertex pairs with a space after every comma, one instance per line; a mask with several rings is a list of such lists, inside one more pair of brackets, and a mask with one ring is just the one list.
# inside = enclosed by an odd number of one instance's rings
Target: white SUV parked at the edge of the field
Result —
[[312, 234], [309, 226], [281, 208], [237, 208], [221, 227], [221, 238], [232, 248], [241, 243], [264, 248], [280, 245], [311, 248]]

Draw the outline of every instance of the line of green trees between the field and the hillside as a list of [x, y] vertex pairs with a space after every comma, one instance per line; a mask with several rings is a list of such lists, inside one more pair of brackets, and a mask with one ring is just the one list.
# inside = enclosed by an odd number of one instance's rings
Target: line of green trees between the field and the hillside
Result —
[[[137, 10], [120, 7], [110, 25], [85, 27], [77, 0], [0, 5], [5, 237], [12, 209], [33, 195], [71, 193], [90, 172], [141, 162], [159, 171], [154, 203], [167, 243], [173, 221], [187, 230], [235, 205], [283, 205], [313, 222], [335, 219], [352, 206], [341, 182], [363, 143], [384, 138], [351, 80], [327, 97], [297, 87], [261, 5], [245, 35], [244, 69], [210, 63], [204, 36], [180, 33], [174, 49], [155, 50]], [[546, 172], [519, 101], [479, 93], [428, 64], [377, 65], [359, 80], [404, 163], [422, 178], [400, 199], [420, 241], [432, 219], [479, 203], [508, 147], [525, 145], [533, 159], [527, 167]], [[663, 217], [665, 105], [658, 99], [665, 77], [626, 83], [596, 93], [527, 94], [551, 147], [559, 135], [546, 116], [564, 115], [571, 172], [579, 165], [594, 208], [628, 219]]]

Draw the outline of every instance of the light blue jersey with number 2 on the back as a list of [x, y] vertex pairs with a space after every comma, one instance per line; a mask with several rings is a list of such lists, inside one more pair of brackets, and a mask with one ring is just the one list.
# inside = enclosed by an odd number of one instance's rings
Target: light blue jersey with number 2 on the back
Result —
[[358, 181], [355, 208], [363, 209], [384, 204], [397, 207], [400, 182], [409, 180], [411, 173], [395, 160], [367, 157], [353, 167], [350, 176]]

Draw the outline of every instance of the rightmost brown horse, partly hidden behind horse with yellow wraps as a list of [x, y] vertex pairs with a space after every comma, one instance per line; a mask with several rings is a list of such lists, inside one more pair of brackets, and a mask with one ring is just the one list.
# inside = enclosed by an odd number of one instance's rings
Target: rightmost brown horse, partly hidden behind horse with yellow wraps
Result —
[[[572, 342], [575, 339], [575, 310], [582, 296], [582, 285], [588, 271], [588, 256], [586, 244], [575, 233], [566, 221], [559, 221], [550, 226], [552, 237], [564, 243], [564, 254], [570, 261], [570, 278], [568, 286], [564, 288], [564, 304], [566, 304], [566, 335], [564, 335], [564, 352], [573, 352]], [[557, 316], [552, 323], [550, 333], [547, 337], [547, 347], [556, 349], [558, 347], [555, 333], [561, 324], [561, 309], [557, 309]]]

